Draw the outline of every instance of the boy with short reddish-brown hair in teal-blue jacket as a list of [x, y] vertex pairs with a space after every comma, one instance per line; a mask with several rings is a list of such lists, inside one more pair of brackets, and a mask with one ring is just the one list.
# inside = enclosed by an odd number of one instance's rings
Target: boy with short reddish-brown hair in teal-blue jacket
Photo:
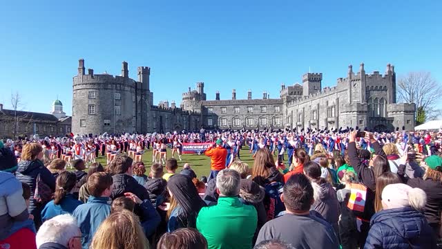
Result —
[[83, 234], [81, 246], [84, 249], [89, 248], [99, 225], [111, 214], [111, 205], [108, 205], [108, 201], [113, 190], [113, 180], [110, 174], [95, 172], [89, 176], [86, 184], [90, 193], [88, 202], [79, 205], [73, 212]]

